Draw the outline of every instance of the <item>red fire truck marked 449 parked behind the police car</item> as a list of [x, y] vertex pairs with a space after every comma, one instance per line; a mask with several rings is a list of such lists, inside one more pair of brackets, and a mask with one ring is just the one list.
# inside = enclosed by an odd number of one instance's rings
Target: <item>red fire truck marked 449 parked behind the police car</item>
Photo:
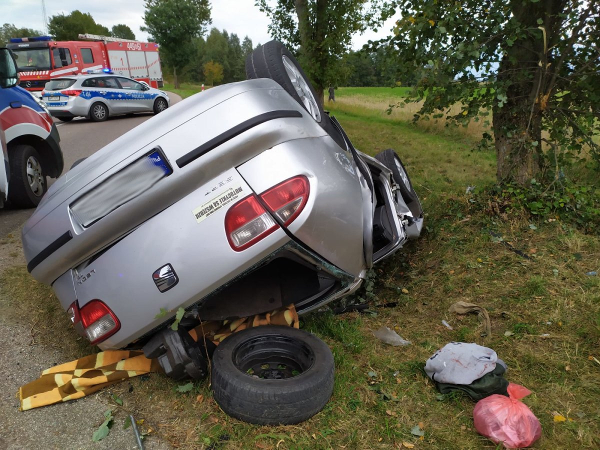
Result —
[[53, 41], [50, 36], [13, 38], [7, 45], [19, 67], [20, 86], [40, 92], [53, 78], [88, 71], [113, 73], [163, 87], [158, 44], [94, 34], [80, 34], [81, 41]]

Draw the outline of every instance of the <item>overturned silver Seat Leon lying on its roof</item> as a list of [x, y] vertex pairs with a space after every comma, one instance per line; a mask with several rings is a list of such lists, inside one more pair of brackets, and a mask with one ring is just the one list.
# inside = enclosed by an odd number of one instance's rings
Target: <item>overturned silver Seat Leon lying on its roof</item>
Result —
[[77, 164], [26, 223], [29, 272], [101, 349], [169, 354], [179, 308], [182, 329], [290, 304], [306, 313], [419, 236], [400, 158], [355, 149], [285, 47], [257, 49], [247, 73]]

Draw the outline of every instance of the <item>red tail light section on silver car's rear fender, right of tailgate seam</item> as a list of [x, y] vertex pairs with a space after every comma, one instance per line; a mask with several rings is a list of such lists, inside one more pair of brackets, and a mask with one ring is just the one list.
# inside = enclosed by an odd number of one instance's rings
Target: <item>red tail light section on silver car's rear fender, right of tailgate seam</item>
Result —
[[283, 225], [287, 226], [302, 212], [309, 193], [308, 178], [298, 175], [263, 192], [260, 198]]

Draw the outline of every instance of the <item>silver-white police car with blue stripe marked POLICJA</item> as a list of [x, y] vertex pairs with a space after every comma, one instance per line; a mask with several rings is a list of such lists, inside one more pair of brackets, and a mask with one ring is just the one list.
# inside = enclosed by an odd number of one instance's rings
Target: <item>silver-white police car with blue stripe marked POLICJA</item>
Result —
[[77, 116], [101, 122], [118, 114], [158, 114], [170, 103], [166, 92], [128, 77], [104, 72], [50, 80], [41, 98], [50, 114], [65, 122]]

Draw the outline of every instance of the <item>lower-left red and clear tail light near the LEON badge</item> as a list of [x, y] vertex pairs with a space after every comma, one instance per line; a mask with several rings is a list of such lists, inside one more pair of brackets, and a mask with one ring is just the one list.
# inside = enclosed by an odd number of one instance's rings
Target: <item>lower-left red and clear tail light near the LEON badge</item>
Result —
[[68, 314], [75, 329], [88, 338], [91, 344], [105, 340], [121, 328], [121, 322], [115, 313], [100, 300], [92, 300], [82, 308], [74, 302], [68, 309]]

